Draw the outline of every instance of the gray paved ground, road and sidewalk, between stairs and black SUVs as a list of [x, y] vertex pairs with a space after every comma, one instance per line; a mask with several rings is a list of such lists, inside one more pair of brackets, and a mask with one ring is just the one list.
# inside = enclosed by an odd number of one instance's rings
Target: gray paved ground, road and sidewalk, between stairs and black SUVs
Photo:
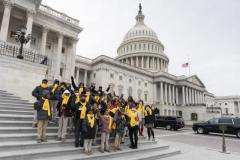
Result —
[[220, 152], [220, 135], [199, 135], [188, 129], [167, 131], [159, 128], [155, 129], [155, 135], [158, 143], [181, 150], [180, 155], [164, 160], [240, 160], [240, 139], [235, 136], [227, 135], [226, 144], [230, 154], [224, 154]]

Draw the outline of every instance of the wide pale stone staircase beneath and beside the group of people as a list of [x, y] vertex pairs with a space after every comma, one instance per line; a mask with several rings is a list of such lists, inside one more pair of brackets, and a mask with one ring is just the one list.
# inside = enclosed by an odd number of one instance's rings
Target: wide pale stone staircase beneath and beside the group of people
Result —
[[[26, 100], [0, 90], [0, 159], [1, 160], [76, 160], [76, 159], [160, 159], [179, 154], [169, 145], [146, 141], [139, 138], [139, 148], [128, 148], [126, 139], [123, 150], [119, 152], [100, 153], [99, 146], [93, 146], [93, 154], [83, 154], [83, 148], [74, 147], [74, 136], [68, 135], [65, 143], [55, 141], [57, 126], [47, 128], [47, 143], [36, 143], [36, 128], [32, 128], [33, 106]], [[97, 136], [100, 143], [100, 135]], [[110, 139], [113, 141], [113, 138]]]

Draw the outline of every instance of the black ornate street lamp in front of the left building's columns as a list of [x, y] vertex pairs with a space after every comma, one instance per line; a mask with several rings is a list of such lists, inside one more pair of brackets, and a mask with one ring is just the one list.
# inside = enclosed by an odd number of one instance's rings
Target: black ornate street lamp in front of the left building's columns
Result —
[[31, 39], [31, 34], [26, 35], [27, 28], [22, 27], [20, 30], [16, 32], [15, 40], [16, 42], [20, 42], [21, 46], [19, 48], [19, 54], [17, 55], [18, 59], [23, 59], [22, 51], [23, 51], [23, 44], [27, 44]]

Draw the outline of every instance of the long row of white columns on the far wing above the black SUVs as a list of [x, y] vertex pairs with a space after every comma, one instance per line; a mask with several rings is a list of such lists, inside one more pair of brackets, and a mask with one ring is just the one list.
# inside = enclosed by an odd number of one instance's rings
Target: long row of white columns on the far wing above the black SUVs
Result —
[[[179, 92], [180, 91], [180, 92]], [[160, 97], [157, 94], [157, 86], [154, 85], [154, 101], [167, 105], [198, 105], [204, 103], [202, 91], [186, 86], [175, 86], [170, 83], [160, 82]], [[182, 92], [182, 93], [181, 93]], [[179, 95], [181, 93], [181, 95]], [[181, 101], [180, 101], [181, 98]]]

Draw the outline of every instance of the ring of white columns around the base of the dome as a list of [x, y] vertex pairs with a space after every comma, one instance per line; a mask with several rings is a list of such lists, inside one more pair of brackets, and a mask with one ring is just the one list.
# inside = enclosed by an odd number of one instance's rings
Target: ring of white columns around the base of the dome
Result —
[[[167, 62], [159, 57], [152, 56], [131, 56], [120, 60], [129, 65], [167, 72]], [[145, 65], [144, 65], [145, 64]]]

